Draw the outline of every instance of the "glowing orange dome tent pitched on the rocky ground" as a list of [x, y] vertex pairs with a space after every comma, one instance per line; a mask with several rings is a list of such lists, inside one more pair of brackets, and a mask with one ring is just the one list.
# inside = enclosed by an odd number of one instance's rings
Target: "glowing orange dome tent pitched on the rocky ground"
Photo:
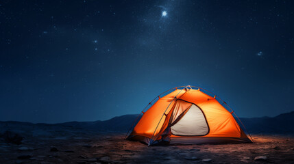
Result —
[[188, 85], [163, 94], [167, 95], [156, 97], [147, 105], [151, 107], [142, 111], [143, 116], [132, 133], [127, 133], [127, 139], [149, 146], [157, 143], [252, 143], [234, 119], [234, 111], [219, 97], [210, 96], [211, 92]]

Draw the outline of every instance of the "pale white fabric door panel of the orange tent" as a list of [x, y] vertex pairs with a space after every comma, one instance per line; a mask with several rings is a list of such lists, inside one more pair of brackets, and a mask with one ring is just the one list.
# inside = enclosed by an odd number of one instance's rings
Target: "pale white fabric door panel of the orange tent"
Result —
[[208, 131], [204, 115], [196, 105], [192, 105], [183, 118], [171, 126], [173, 135], [206, 135]]

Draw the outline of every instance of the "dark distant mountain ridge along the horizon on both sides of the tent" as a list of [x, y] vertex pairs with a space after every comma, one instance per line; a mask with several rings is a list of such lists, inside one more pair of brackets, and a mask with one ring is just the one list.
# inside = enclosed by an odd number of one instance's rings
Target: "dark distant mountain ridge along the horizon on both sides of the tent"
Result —
[[[33, 124], [29, 122], [7, 122], [13, 124], [26, 124], [37, 126], [64, 126], [69, 128], [79, 128], [87, 131], [101, 132], [127, 132], [138, 115], [121, 115], [106, 121], [95, 122], [64, 122], [59, 124]], [[140, 120], [140, 118], [138, 119]], [[137, 120], [137, 122], [138, 122]], [[282, 113], [273, 118], [240, 118], [247, 131], [252, 134], [294, 134], [294, 111]], [[6, 123], [6, 122], [0, 122]], [[136, 123], [135, 123], [136, 124]]]

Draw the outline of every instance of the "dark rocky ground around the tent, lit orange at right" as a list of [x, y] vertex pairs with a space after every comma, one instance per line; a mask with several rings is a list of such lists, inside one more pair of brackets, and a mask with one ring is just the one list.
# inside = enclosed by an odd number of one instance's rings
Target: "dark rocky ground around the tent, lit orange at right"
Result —
[[21, 144], [0, 139], [0, 163], [294, 163], [294, 137], [253, 135], [255, 143], [146, 146], [123, 133], [34, 128]]

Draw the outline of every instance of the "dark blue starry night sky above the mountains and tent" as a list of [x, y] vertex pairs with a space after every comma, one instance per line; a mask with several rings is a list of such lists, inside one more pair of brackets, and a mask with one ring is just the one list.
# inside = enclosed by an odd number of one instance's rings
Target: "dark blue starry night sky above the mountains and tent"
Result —
[[193, 85], [239, 117], [293, 111], [294, 1], [0, 1], [0, 120], [135, 114]]

